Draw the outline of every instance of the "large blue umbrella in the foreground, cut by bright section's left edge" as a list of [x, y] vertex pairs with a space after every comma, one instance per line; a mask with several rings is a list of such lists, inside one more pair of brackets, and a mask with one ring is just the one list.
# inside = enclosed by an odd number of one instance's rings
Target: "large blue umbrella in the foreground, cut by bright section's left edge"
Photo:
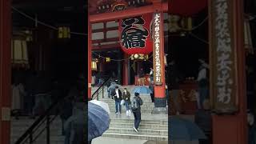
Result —
[[88, 141], [101, 136], [110, 126], [110, 116], [101, 106], [88, 102]]

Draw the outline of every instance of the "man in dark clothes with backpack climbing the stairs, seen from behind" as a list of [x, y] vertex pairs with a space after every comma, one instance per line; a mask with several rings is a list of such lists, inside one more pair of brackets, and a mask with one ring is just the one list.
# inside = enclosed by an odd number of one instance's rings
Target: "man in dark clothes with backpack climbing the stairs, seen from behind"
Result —
[[134, 94], [134, 98], [131, 100], [131, 110], [134, 113], [134, 130], [138, 133], [138, 126], [141, 122], [141, 106], [143, 104], [142, 98], [139, 97], [138, 93]]

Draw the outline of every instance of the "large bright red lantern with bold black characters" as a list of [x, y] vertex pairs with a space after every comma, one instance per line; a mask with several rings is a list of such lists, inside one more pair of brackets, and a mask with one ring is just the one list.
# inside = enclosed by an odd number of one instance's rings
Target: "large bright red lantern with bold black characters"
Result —
[[125, 18], [119, 22], [120, 44], [126, 54], [150, 54], [152, 14]]

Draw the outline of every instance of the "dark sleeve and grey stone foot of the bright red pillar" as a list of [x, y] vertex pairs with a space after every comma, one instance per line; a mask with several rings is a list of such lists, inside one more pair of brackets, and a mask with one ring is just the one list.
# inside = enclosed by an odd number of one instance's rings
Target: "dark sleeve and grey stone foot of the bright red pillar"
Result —
[[154, 98], [154, 108], [152, 114], [168, 114], [166, 98]]

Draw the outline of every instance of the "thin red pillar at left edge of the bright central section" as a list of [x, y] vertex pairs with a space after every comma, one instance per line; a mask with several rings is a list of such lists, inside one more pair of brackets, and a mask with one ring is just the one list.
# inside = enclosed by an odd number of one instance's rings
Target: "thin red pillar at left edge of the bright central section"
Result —
[[[88, 18], [90, 18], [90, 15], [88, 14]], [[91, 50], [92, 50], [92, 31], [91, 31], [91, 23], [88, 21], [88, 100], [91, 99]]]

